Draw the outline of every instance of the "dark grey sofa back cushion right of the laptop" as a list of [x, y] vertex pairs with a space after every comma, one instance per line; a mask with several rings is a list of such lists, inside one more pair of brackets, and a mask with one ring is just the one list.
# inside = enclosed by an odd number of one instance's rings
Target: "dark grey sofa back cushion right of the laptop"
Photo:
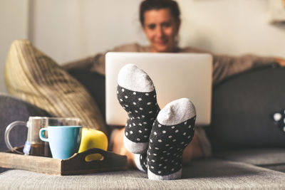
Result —
[[285, 108], [284, 81], [285, 68], [262, 68], [214, 88], [212, 125], [206, 129], [214, 152], [285, 146], [285, 132], [270, 118]]

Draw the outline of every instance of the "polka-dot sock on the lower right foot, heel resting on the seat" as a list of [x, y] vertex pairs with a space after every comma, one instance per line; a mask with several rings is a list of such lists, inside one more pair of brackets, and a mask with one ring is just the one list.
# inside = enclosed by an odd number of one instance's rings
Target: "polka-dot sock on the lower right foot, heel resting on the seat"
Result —
[[180, 179], [182, 152], [195, 132], [195, 107], [187, 98], [170, 102], [157, 115], [147, 150], [149, 179]]

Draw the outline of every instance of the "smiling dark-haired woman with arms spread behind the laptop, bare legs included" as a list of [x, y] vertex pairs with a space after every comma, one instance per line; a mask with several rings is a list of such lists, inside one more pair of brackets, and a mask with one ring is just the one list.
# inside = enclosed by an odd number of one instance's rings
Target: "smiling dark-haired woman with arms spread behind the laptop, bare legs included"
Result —
[[[180, 30], [180, 9], [172, 0], [145, 0], [140, 4], [140, 23], [150, 46], [130, 44], [115, 48], [112, 51], [153, 52], [153, 53], [202, 53], [195, 48], [179, 48], [177, 36]], [[262, 65], [285, 65], [281, 58], [262, 58], [258, 56], [218, 56], [213, 54], [213, 84], [217, 85], [231, 75], [244, 70], [257, 68]], [[93, 58], [69, 63], [66, 69], [81, 68], [105, 75], [105, 54], [98, 54]], [[124, 146], [125, 129], [115, 130], [110, 138], [113, 152], [128, 156], [128, 164], [135, 166], [134, 154]], [[193, 158], [206, 157], [211, 154], [209, 141], [202, 129], [195, 132], [192, 142], [183, 152], [183, 163], [187, 164]]]

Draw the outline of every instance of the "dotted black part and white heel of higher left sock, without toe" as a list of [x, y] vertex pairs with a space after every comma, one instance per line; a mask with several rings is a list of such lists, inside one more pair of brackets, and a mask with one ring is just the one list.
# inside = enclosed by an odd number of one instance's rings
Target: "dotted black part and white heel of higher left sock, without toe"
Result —
[[125, 147], [130, 152], [142, 154], [147, 151], [152, 123], [159, 112], [155, 91], [140, 93], [118, 85], [118, 100], [128, 112]]

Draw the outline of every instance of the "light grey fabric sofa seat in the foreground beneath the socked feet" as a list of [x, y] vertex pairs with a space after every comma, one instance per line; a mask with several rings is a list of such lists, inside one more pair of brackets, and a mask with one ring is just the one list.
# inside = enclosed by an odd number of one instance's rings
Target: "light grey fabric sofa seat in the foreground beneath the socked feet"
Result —
[[285, 174], [220, 159], [192, 162], [182, 179], [154, 181], [138, 170], [78, 176], [52, 176], [10, 170], [0, 174], [0, 189], [284, 189]]

